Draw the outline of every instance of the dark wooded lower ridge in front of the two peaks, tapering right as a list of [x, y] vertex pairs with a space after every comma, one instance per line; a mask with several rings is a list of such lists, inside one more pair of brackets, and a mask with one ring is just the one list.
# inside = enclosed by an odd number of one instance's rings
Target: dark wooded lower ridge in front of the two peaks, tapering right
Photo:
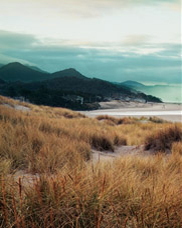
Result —
[[112, 99], [161, 102], [156, 97], [131, 91], [125, 86], [118, 87], [104, 80], [84, 76], [61, 76], [39, 82], [9, 83], [0, 93], [10, 97], [23, 96], [35, 104], [75, 110], [96, 109], [99, 107], [98, 102]]

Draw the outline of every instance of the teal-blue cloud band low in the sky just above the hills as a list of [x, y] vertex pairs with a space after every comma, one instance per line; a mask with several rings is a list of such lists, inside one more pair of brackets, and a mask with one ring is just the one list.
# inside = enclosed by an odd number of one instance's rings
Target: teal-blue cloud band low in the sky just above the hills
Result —
[[0, 31], [0, 63], [20, 61], [50, 72], [73, 67], [86, 76], [118, 82], [180, 83], [180, 44], [151, 44], [148, 37], [142, 44], [139, 38], [129, 37], [132, 45], [88, 43], [84, 46], [64, 40], [43, 42], [32, 35]]

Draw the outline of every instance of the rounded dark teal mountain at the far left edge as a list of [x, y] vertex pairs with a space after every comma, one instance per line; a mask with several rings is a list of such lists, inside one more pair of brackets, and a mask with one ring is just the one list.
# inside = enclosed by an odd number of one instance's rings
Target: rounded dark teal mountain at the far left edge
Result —
[[0, 78], [5, 81], [41, 81], [49, 78], [48, 73], [33, 70], [21, 63], [14, 62], [0, 68]]

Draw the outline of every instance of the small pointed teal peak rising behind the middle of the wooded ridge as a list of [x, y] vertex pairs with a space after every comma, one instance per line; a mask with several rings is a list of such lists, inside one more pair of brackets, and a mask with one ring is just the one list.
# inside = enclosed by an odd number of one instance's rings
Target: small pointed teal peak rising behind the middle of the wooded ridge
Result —
[[51, 74], [52, 78], [61, 78], [61, 77], [76, 77], [76, 78], [86, 78], [80, 72], [75, 70], [74, 68], [69, 68], [66, 70], [58, 71]]

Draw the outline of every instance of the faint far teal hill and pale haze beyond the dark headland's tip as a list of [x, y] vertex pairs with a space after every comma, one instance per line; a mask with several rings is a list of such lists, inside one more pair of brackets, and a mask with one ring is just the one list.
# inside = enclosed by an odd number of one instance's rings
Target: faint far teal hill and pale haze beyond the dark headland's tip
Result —
[[145, 94], [160, 97], [164, 102], [182, 103], [181, 85], [144, 85], [136, 81], [125, 81], [121, 86], [140, 91]]

